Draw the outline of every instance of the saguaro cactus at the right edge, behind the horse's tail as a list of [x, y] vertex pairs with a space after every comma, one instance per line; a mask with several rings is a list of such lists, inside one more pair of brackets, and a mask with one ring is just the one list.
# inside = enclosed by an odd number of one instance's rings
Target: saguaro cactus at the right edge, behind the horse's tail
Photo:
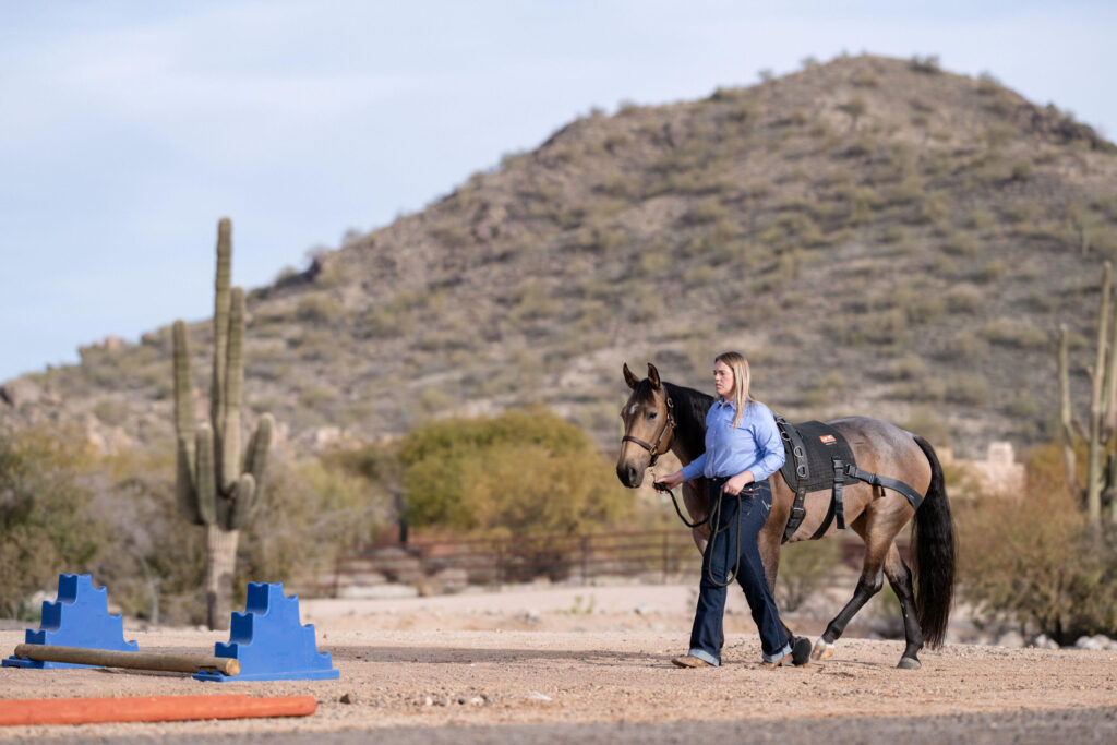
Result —
[[[1089, 426], [1083, 429], [1072, 414], [1067, 326], [1059, 328], [1059, 421], [1062, 430], [1063, 465], [1071, 491], [1082, 493], [1091, 525], [1101, 523], [1102, 497], [1109, 500], [1109, 519], [1117, 524], [1117, 304], [1113, 302], [1113, 267], [1101, 270], [1101, 305], [1098, 309], [1096, 360], [1090, 369]], [[1086, 486], [1078, 483], [1075, 436], [1087, 441]]]

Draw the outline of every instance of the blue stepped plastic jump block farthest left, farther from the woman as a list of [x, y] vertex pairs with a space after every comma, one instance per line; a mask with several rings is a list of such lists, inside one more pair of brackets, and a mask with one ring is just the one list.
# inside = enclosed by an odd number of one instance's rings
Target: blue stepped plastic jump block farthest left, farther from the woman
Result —
[[[54, 602], [42, 601], [39, 630], [28, 629], [25, 643], [122, 652], [135, 652], [140, 648], [134, 641], [124, 641], [124, 619], [118, 613], [108, 613], [108, 591], [93, 586], [93, 577], [88, 574], [58, 575], [58, 599]], [[70, 662], [40, 662], [16, 656], [4, 659], [2, 666], [48, 670], [94, 667]]]

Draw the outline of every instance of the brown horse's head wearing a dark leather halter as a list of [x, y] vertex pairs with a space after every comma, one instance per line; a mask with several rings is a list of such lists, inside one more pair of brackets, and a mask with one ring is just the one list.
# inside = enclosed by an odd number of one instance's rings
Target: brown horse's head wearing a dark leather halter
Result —
[[624, 364], [624, 382], [632, 394], [621, 409], [624, 437], [617, 459], [617, 477], [627, 487], [643, 483], [643, 472], [671, 447], [675, 433], [674, 403], [659, 381], [656, 365], [648, 363], [648, 378], [638, 380]]

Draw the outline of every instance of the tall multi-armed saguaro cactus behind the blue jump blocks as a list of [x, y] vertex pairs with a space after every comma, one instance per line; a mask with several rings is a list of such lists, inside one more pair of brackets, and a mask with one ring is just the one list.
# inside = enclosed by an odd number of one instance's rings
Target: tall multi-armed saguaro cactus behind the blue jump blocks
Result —
[[240, 393], [245, 380], [245, 290], [229, 287], [232, 223], [218, 222], [210, 421], [195, 427], [187, 325], [174, 322], [174, 429], [179, 509], [206, 526], [206, 601], [210, 629], [228, 629], [240, 528], [260, 500], [275, 420], [260, 418], [240, 462]]

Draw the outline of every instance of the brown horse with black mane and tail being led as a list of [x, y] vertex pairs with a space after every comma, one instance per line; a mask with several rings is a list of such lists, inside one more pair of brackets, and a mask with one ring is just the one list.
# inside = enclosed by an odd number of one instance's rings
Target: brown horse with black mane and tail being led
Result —
[[[629, 395], [621, 419], [624, 437], [617, 459], [617, 476], [621, 484], [636, 488], [656, 459], [671, 451], [684, 465], [705, 451], [706, 412], [714, 398], [694, 389], [675, 385], [659, 378], [655, 365], [648, 364], [648, 378], [637, 379], [623, 367]], [[865, 542], [865, 563], [852, 599], [827, 625], [811, 650], [811, 659], [833, 657], [834, 643], [859, 610], [880, 592], [881, 574], [896, 592], [904, 618], [907, 646], [898, 668], [918, 670], [919, 650], [942, 646], [949, 620], [954, 592], [955, 539], [954, 520], [946, 496], [943, 468], [934, 448], [924, 438], [895, 424], [868, 417], [844, 417], [827, 422], [849, 442], [860, 468], [899, 479], [925, 495], [919, 508], [900, 494], [880, 486], [855, 481], [844, 486], [846, 523]], [[795, 490], [782, 474], [770, 478], [772, 512], [756, 541], [768, 588], [775, 590], [780, 569], [780, 546], [791, 514]], [[708, 524], [700, 524], [709, 514], [706, 479], [695, 478], [682, 487], [682, 500], [699, 526], [693, 529], [695, 545], [705, 553], [709, 541]], [[825, 519], [830, 491], [811, 491], [804, 507], [806, 517], [791, 542], [822, 538], [839, 531], [831, 525], [822, 535], [815, 532]], [[896, 536], [913, 516], [911, 546], [917, 581], [913, 585], [911, 570], [900, 555]], [[791, 630], [784, 625], [787, 638]]]

